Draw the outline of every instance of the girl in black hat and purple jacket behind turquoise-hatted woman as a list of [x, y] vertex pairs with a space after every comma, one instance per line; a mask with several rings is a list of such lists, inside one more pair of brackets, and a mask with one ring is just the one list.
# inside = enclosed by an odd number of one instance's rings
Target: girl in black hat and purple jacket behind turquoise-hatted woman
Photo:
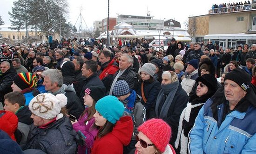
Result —
[[95, 104], [96, 102], [103, 98], [105, 95], [104, 86], [90, 86], [85, 90], [84, 105], [85, 111], [81, 114], [78, 121], [73, 123], [73, 128], [76, 132], [81, 131], [85, 136], [85, 145], [78, 146], [78, 154], [90, 154], [90, 149], [93, 146], [94, 138], [98, 133], [97, 126], [94, 124], [95, 119], [93, 115], [95, 114]]

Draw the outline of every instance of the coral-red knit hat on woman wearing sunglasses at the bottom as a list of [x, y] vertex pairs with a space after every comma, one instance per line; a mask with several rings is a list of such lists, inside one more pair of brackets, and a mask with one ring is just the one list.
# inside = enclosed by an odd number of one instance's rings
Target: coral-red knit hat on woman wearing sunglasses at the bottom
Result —
[[170, 126], [162, 119], [150, 119], [143, 123], [138, 131], [147, 136], [161, 152], [165, 151], [172, 133]]

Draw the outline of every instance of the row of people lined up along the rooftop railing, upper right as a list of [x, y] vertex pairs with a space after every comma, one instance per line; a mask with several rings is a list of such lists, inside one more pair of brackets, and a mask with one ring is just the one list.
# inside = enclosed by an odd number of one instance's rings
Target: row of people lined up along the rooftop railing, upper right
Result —
[[234, 12], [256, 9], [256, 0], [245, 0], [244, 2], [222, 3], [212, 5], [212, 13]]

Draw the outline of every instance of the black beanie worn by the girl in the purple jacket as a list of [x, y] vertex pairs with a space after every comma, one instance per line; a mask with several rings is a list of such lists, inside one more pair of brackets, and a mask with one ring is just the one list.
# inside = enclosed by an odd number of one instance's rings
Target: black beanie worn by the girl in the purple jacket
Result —
[[95, 102], [97, 102], [99, 99], [103, 98], [105, 96], [106, 88], [105, 86], [89, 86], [85, 93], [90, 95]]

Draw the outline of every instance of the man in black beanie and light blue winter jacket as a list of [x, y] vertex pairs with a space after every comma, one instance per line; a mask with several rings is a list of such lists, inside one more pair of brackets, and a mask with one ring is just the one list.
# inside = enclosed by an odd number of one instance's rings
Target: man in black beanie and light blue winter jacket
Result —
[[208, 99], [189, 133], [190, 154], [255, 154], [256, 94], [243, 69], [226, 74], [224, 90]]

